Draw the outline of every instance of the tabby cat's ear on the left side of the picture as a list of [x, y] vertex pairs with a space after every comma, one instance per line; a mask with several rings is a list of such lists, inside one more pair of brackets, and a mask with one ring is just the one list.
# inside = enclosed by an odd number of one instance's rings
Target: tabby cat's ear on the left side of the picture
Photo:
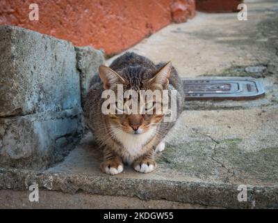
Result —
[[124, 84], [124, 79], [111, 68], [99, 66], [99, 77], [104, 83], [104, 89], [110, 89], [113, 84]]

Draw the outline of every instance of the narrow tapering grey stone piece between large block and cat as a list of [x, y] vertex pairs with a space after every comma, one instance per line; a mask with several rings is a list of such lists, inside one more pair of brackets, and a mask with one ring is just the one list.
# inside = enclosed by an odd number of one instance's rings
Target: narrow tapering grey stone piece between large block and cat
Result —
[[90, 88], [90, 81], [98, 75], [99, 65], [104, 63], [104, 53], [92, 47], [75, 47], [77, 69], [80, 72], [82, 105]]

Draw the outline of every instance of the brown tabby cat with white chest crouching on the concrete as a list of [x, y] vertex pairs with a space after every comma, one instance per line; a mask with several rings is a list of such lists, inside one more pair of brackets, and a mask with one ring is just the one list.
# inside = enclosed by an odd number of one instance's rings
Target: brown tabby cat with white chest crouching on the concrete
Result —
[[[151, 172], [156, 168], [155, 155], [164, 150], [163, 139], [175, 121], [164, 122], [166, 114], [163, 113], [104, 114], [101, 106], [106, 99], [101, 98], [101, 94], [108, 89], [117, 93], [119, 84], [122, 84], [124, 91], [177, 90], [178, 118], [184, 98], [181, 79], [170, 62], [155, 65], [145, 56], [126, 52], [115, 59], [110, 67], [99, 66], [99, 75], [92, 78], [85, 99], [85, 123], [104, 153], [101, 171], [111, 175], [120, 174], [124, 164], [132, 164], [138, 172]], [[158, 102], [154, 100], [152, 103], [155, 105]]]

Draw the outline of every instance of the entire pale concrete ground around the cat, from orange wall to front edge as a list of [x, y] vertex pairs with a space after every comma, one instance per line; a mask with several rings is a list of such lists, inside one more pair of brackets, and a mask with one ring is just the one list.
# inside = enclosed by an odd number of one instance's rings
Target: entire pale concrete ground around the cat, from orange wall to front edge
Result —
[[[186, 102], [152, 173], [140, 174], [131, 167], [117, 176], [101, 173], [101, 151], [86, 134], [50, 169], [0, 169], [0, 188], [27, 190], [38, 183], [49, 194], [66, 193], [63, 199], [69, 202], [73, 198], [68, 194], [101, 194], [120, 197], [120, 202], [137, 197], [205, 207], [278, 208], [278, 3], [245, 3], [247, 22], [238, 21], [235, 13], [197, 13], [195, 20], [167, 26], [131, 51], [156, 62], [171, 60], [183, 77], [256, 75], [265, 87], [264, 98]], [[237, 199], [239, 185], [247, 186], [246, 202]], [[154, 207], [169, 206], [165, 202]]]

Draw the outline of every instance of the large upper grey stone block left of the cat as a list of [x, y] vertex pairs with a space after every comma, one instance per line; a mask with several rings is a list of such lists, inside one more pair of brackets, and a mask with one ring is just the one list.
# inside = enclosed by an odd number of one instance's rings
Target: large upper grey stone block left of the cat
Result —
[[72, 43], [17, 26], [0, 26], [0, 52], [0, 116], [81, 106]]

